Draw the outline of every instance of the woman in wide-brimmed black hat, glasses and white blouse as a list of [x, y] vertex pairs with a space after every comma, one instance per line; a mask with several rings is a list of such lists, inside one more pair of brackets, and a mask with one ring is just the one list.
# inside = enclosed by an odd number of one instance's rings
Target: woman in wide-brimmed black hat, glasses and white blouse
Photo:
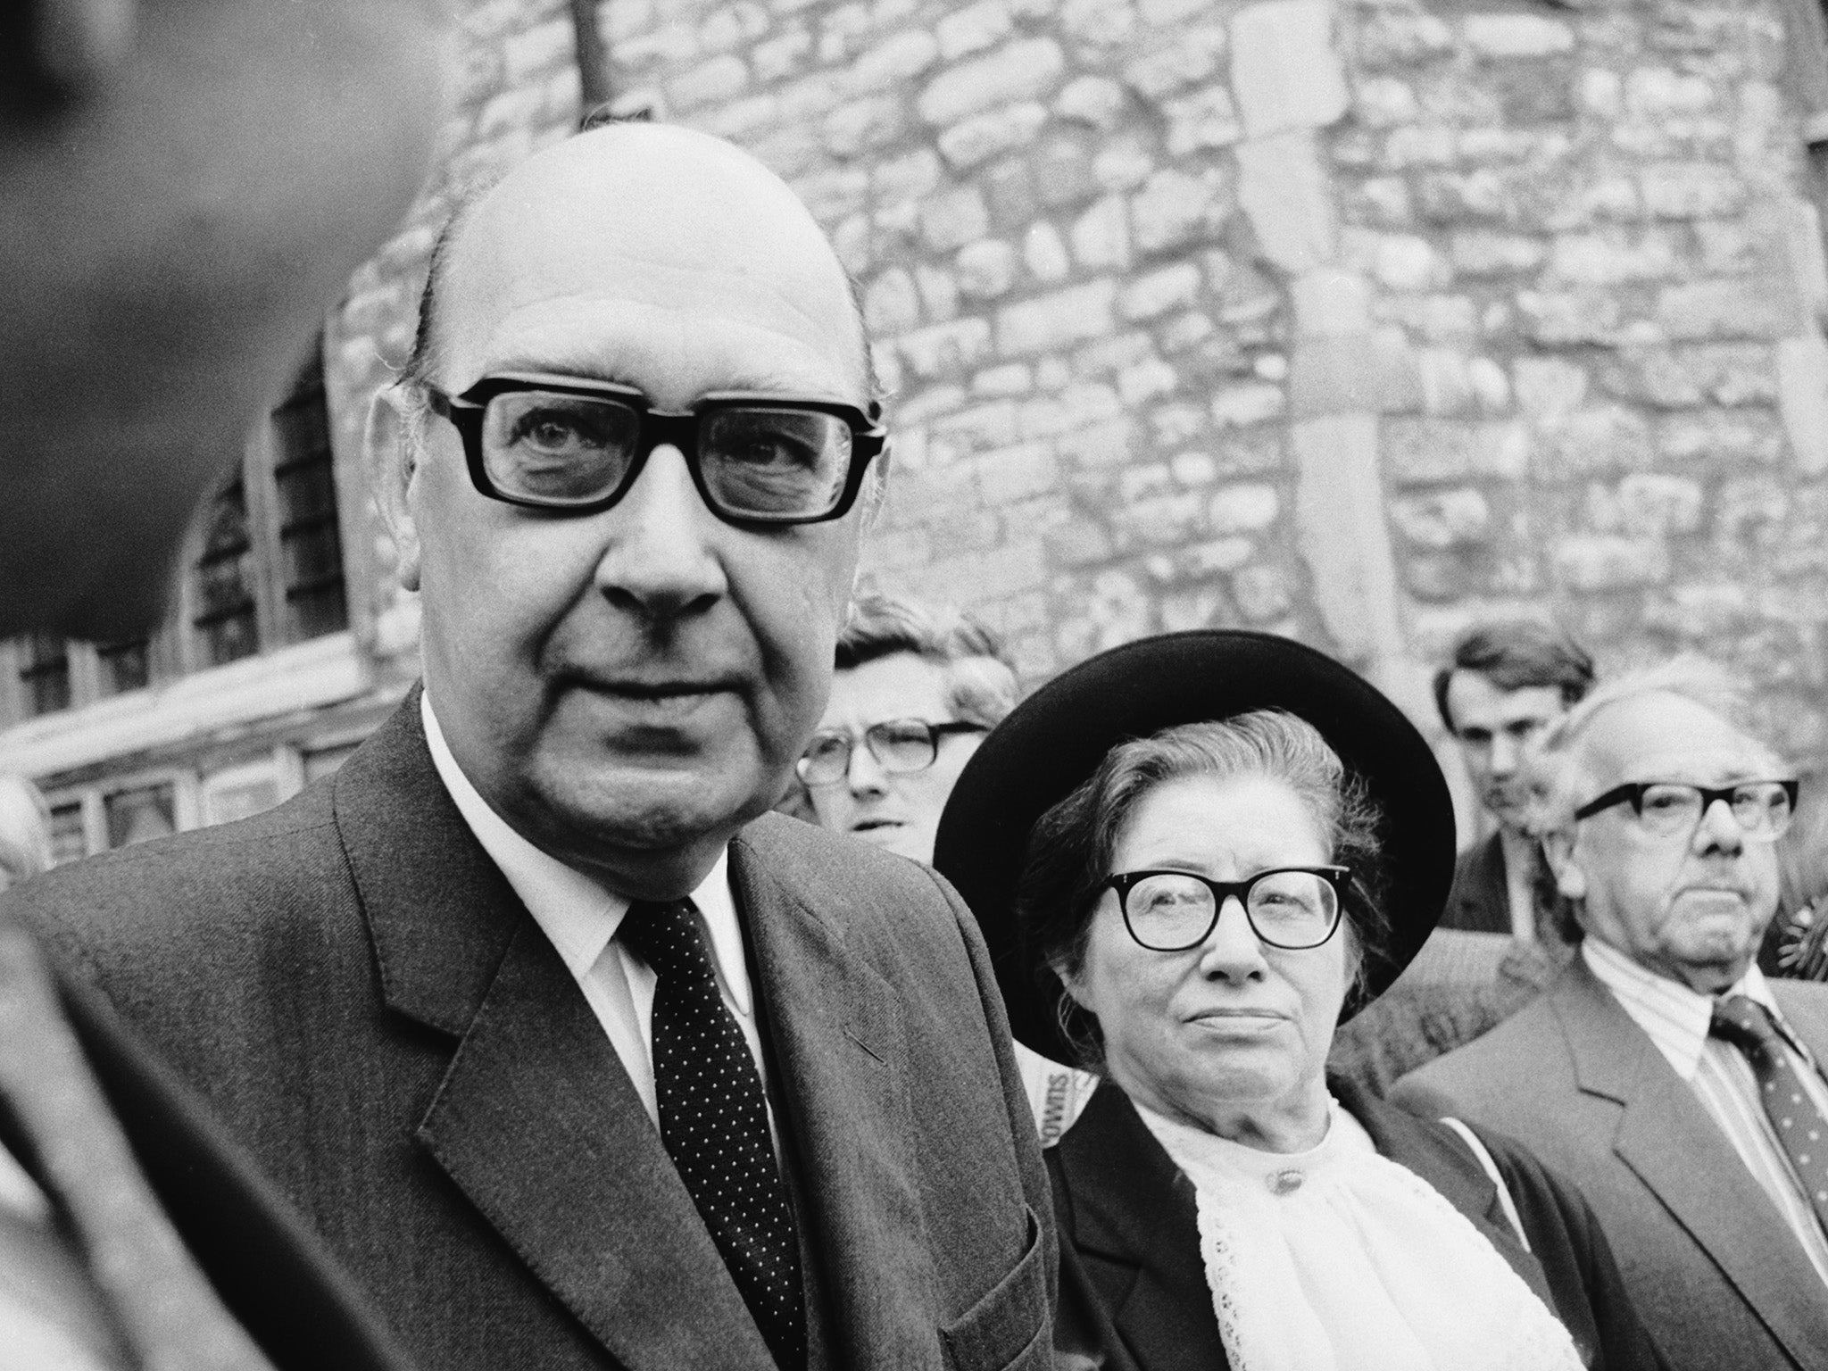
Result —
[[1104, 1075], [1047, 1153], [1062, 1351], [1658, 1366], [1572, 1188], [1325, 1075], [1453, 872], [1433, 755], [1351, 671], [1217, 631], [1093, 658], [978, 749], [936, 865], [985, 925], [1016, 1036]]

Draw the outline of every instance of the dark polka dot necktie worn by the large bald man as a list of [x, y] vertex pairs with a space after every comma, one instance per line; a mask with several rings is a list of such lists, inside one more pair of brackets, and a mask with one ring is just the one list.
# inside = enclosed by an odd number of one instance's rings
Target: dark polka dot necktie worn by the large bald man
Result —
[[775, 1364], [797, 1371], [806, 1366], [806, 1311], [793, 1210], [768, 1135], [762, 1075], [717, 989], [698, 914], [689, 901], [636, 903], [618, 936], [658, 976], [660, 1137]]

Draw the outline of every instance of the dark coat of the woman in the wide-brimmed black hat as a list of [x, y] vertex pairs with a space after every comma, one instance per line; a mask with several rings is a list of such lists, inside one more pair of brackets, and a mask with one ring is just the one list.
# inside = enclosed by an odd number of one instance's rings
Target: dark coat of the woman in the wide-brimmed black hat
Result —
[[[1382, 1155], [1435, 1186], [1492, 1239], [1574, 1334], [1590, 1367], [1662, 1366], [1625, 1298], [1605, 1234], [1572, 1186], [1517, 1144], [1481, 1132], [1530, 1238], [1525, 1252], [1497, 1186], [1453, 1130], [1371, 1099], [1345, 1080], [1329, 1084]], [[1194, 1188], [1117, 1086], [1099, 1088], [1047, 1152], [1047, 1172], [1060, 1223], [1058, 1366], [1225, 1367], [1199, 1259]]]

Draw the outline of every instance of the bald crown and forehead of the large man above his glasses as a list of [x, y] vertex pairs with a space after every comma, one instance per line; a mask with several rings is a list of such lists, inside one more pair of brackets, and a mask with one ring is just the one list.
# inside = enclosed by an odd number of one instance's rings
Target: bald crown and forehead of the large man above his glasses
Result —
[[523, 163], [466, 216], [441, 289], [461, 373], [596, 371], [598, 327], [653, 320], [773, 335], [841, 375], [859, 347], [848, 282], [812, 216], [746, 154], [686, 130], [598, 130]]

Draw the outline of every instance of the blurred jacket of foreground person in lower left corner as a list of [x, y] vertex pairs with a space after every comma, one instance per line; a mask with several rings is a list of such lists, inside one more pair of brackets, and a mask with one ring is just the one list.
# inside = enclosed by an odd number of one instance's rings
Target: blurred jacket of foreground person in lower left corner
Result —
[[404, 1371], [252, 1161], [4, 916], [0, 1141], [58, 1219], [7, 1216], [9, 1292], [48, 1300], [53, 1323], [75, 1316], [90, 1349], [144, 1371]]

